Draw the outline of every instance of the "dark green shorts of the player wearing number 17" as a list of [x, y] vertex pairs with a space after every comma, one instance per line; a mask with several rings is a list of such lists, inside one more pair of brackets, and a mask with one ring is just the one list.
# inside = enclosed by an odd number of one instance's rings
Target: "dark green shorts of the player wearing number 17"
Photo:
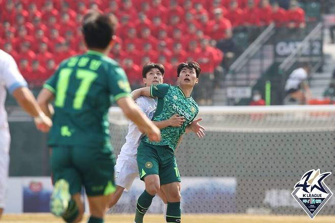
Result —
[[54, 146], [51, 149], [52, 181], [69, 182], [71, 195], [85, 187], [88, 196], [109, 195], [116, 190], [114, 155], [109, 148]]

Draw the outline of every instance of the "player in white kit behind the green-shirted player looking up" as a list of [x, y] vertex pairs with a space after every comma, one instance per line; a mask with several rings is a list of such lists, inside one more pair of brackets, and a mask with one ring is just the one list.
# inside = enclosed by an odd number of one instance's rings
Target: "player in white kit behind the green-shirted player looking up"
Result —
[[[149, 62], [144, 65], [142, 69], [143, 82], [146, 86], [152, 84], [162, 84], [164, 75], [164, 66], [159, 63]], [[157, 99], [152, 97], [138, 97], [135, 100], [138, 107], [151, 119], [156, 111]], [[188, 131], [193, 131], [197, 134], [198, 138], [204, 136], [204, 128], [199, 125], [199, 121], [202, 118], [194, 120]], [[171, 118], [155, 122], [155, 125], [162, 129], [168, 126], [180, 127], [185, 121], [184, 117], [179, 115], [173, 115]], [[123, 191], [128, 191], [133, 183], [134, 179], [138, 176], [138, 167], [136, 161], [137, 147], [143, 133], [140, 132], [137, 126], [133, 123], [129, 123], [128, 134], [126, 136], [126, 142], [121, 148], [121, 152], [118, 156], [115, 165], [115, 183], [117, 185], [116, 192], [111, 196], [109, 207], [113, 207], [120, 199]], [[165, 194], [160, 190], [158, 195], [161, 197], [163, 203], [167, 204]], [[166, 208], [164, 208], [165, 211]]]

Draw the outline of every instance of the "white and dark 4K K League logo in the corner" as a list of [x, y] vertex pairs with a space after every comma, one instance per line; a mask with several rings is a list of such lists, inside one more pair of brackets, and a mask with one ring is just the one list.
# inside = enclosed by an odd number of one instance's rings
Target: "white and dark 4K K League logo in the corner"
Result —
[[296, 183], [292, 196], [300, 204], [302, 209], [313, 219], [332, 196], [323, 180], [331, 175], [331, 172], [320, 174], [320, 169], [311, 169]]

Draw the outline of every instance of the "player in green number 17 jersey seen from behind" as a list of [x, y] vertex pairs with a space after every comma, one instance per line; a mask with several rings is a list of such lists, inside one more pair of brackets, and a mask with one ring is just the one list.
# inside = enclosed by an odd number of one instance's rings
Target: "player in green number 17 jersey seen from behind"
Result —
[[134, 104], [124, 70], [106, 57], [115, 28], [114, 17], [88, 13], [82, 32], [89, 51], [63, 61], [38, 96], [42, 110], [50, 117], [49, 103], [54, 99], [48, 141], [54, 182], [50, 210], [66, 222], [82, 218], [82, 186], [89, 200], [89, 223], [103, 222], [110, 194], [115, 191], [106, 118], [110, 95], [150, 140], [160, 141], [159, 129]]

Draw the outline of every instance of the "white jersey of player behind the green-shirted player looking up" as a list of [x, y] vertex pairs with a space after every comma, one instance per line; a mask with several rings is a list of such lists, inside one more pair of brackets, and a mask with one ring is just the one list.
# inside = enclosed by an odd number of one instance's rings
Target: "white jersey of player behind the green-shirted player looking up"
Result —
[[[156, 99], [152, 97], [141, 96], [136, 98], [135, 103], [146, 114], [146, 116], [149, 119], [152, 119], [157, 107]], [[128, 134], [126, 135], [126, 142], [123, 144], [119, 156], [121, 155], [136, 156], [137, 147], [141, 142], [142, 136], [143, 133], [139, 132], [135, 123], [130, 121], [128, 126]]]

